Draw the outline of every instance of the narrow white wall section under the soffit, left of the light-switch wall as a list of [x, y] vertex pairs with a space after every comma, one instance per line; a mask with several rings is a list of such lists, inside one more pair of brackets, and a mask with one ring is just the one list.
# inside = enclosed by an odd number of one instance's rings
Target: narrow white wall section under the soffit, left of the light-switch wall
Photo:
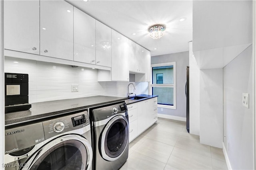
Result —
[[200, 70], [200, 143], [222, 148], [223, 69]]

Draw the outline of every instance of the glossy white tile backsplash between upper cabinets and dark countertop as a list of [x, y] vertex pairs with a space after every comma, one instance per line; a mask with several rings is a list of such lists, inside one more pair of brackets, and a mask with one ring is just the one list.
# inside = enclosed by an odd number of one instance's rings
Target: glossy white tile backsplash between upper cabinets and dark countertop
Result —
[[[128, 94], [130, 82], [98, 82], [97, 69], [13, 57], [5, 57], [4, 64], [4, 72], [28, 74], [30, 103], [96, 95], [125, 97]], [[71, 92], [71, 84], [78, 84], [78, 92]], [[130, 92], [148, 94], [148, 82], [134, 82], [134, 86], [136, 90], [130, 86]]]

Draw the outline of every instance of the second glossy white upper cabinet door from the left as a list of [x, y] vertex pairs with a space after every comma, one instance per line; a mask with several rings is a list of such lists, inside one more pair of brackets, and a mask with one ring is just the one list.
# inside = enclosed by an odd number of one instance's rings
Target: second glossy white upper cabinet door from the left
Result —
[[73, 6], [40, 1], [40, 55], [73, 60]]

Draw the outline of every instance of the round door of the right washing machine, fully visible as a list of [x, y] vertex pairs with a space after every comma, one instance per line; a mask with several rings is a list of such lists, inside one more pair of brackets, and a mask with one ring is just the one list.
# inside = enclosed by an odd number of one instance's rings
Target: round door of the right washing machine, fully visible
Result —
[[104, 127], [99, 140], [102, 158], [108, 161], [122, 156], [129, 142], [129, 126], [126, 117], [117, 115]]

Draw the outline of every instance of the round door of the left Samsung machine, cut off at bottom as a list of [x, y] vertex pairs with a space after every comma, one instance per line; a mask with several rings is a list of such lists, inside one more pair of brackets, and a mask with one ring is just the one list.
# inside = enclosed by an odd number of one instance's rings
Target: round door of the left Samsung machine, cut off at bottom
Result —
[[92, 165], [90, 142], [79, 135], [64, 135], [35, 152], [22, 170], [87, 170]]

